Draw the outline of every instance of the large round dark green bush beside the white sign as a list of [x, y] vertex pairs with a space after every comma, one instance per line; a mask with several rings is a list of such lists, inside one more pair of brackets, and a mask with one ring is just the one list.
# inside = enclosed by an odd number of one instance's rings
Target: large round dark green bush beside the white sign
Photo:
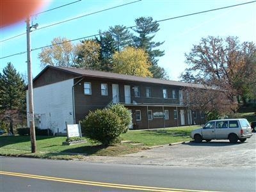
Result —
[[81, 128], [86, 137], [99, 141], [103, 145], [115, 143], [124, 131], [122, 120], [111, 109], [97, 109], [81, 122]]

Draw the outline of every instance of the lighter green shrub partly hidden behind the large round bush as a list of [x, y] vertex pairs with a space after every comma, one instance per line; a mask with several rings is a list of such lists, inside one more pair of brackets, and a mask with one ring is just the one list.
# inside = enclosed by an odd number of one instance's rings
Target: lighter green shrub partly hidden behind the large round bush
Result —
[[122, 121], [122, 133], [127, 132], [132, 121], [132, 117], [129, 111], [122, 104], [110, 104], [108, 109], [120, 117]]

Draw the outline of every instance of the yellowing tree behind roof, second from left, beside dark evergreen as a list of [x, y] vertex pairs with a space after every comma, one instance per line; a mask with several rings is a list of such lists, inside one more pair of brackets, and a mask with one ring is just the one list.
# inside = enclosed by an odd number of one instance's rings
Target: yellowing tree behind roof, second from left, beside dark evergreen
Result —
[[83, 40], [76, 45], [76, 67], [100, 70], [100, 45], [94, 40]]

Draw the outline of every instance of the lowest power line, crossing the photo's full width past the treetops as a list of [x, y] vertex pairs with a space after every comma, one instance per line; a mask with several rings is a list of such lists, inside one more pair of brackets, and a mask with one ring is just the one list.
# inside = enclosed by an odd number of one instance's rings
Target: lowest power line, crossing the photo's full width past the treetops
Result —
[[[140, 0], [141, 1], [141, 0]], [[221, 7], [221, 8], [216, 8], [216, 9], [212, 9], [212, 10], [206, 10], [206, 11], [202, 11], [202, 12], [196, 12], [196, 13], [189, 13], [189, 14], [186, 14], [186, 15], [180, 15], [180, 16], [177, 16], [177, 17], [170, 17], [170, 18], [167, 18], [167, 19], [162, 19], [162, 20], [156, 20], [152, 23], [157, 23], [157, 22], [163, 22], [163, 21], [166, 21], [166, 20], [172, 20], [172, 19], [179, 19], [181, 17], [188, 17], [188, 16], [191, 16], [191, 15], [198, 15], [200, 13], [207, 13], [207, 12], [213, 12], [213, 11], [216, 11], [216, 10], [222, 10], [222, 9], [226, 9], [226, 8], [231, 8], [231, 7], [234, 7], [234, 6], [241, 6], [241, 5], [244, 5], [244, 4], [249, 4], [249, 3], [255, 3], [256, 1], [250, 1], [250, 2], [247, 2], [247, 3], [240, 3], [240, 4], [234, 4], [234, 5], [231, 5], [231, 6], [225, 6], [225, 7]], [[135, 28], [137, 26], [140, 26], [140, 25], [136, 25], [136, 26], [130, 26], [130, 27], [126, 27], [125, 29], [132, 29], [132, 28]], [[38, 47], [38, 48], [35, 48], [35, 49], [31, 49], [31, 51], [36, 51], [38, 49], [44, 49], [46, 47], [51, 47], [51, 46], [54, 46], [54, 45], [60, 45], [60, 44], [65, 44], [67, 42], [74, 42], [74, 41], [77, 41], [77, 40], [81, 40], [81, 39], [85, 39], [85, 38], [90, 38], [90, 37], [93, 37], [93, 36], [99, 36], [99, 35], [104, 35], [104, 34], [107, 34], [109, 32], [104, 32], [104, 33], [98, 33], [98, 34], [95, 34], [95, 35], [90, 35], [90, 36], [84, 36], [84, 37], [81, 37], [81, 38], [76, 38], [76, 39], [73, 39], [73, 40], [68, 40], [68, 41], [65, 41], [65, 42], [60, 42], [58, 44], [51, 44], [51, 45], [45, 45], [43, 47]], [[17, 54], [24, 54], [26, 53], [26, 51], [24, 52], [20, 52], [20, 53], [17, 53]], [[15, 56], [17, 54], [12, 54], [12, 55], [9, 55], [9, 56], [4, 56], [3, 58], [8, 58], [8, 57], [11, 57], [11, 56]], [[0, 58], [3, 59], [3, 58]]]

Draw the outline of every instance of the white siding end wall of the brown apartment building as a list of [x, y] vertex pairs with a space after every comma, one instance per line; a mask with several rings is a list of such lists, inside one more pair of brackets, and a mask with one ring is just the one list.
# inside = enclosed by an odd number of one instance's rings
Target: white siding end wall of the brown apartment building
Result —
[[[66, 132], [65, 122], [73, 124], [73, 79], [34, 88], [35, 125], [52, 132]], [[27, 91], [28, 101], [28, 91]], [[28, 102], [27, 102], [27, 112]], [[28, 122], [29, 127], [29, 122]]]

